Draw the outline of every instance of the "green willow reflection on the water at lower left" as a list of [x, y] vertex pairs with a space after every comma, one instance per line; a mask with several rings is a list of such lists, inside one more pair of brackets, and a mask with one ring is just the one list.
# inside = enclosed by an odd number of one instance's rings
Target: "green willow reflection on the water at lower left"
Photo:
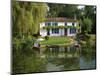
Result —
[[[27, 56], [26, 54], [29, 55]], [[37, 54], [27, 50], [27, 53], [14, 54], [13, 56], [13, 73], [29, 73], [29, 72], [44, 72], [46, 64], [44, 59], [40, 59]]]

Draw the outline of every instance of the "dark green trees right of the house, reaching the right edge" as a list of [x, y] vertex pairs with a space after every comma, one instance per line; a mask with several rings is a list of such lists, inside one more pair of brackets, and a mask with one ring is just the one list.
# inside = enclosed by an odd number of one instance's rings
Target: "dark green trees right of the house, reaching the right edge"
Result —
[[[96, 33], [96, 7], [95, 6], [85, 6], [83, 9], [79, 9], [76, 12], [77, 19], [79, 19], [79, 24], [82, 26], [81, 29], [86, 28], [84, 26], [84, 21], [86, 19], [91, 20], [91, 26], [89, 25], [89, 30], [86, 33]], [[89, 22], [89, 21], [88, 21]], [[85, 23], [86, 24], [86, 23]], [[84, 31], [82, 31], [84, 33]]]

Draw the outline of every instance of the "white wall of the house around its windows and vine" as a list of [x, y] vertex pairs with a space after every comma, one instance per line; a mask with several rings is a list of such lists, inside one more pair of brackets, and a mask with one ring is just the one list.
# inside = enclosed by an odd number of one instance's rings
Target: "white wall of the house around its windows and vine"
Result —
[[[52, 24], [53, 22], [51, 22]], [[67, 26], [72, 26], [73, 22], [67, 22]], [[74, 22], [74, 25], [76, 26], [77, 23]], [[65, 22], [58, 22], [58, 26], [65, 26]], [[47, 30], [43, 29], [45, 27], [45, 22], [40, 24], [40, 35], [41, 36], [47, 36]], [[63, 36], [65, 35], [65, 30], [64, 29], [59, 29], [59, 34], [52, 34], [52, 30], [50, 30], [50, 36]], [[70, 28], [67, 29], [67, 36], [75, 36], [76, 34], [70, 34]]]

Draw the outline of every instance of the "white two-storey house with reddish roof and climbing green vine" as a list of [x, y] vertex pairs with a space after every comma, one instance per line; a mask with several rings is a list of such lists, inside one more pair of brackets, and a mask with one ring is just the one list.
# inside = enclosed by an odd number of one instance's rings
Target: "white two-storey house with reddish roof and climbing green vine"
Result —
[[75, 36], [78, 31], [78, 22], [67, 18], [46, 18], [40, 23], [41, 36]]

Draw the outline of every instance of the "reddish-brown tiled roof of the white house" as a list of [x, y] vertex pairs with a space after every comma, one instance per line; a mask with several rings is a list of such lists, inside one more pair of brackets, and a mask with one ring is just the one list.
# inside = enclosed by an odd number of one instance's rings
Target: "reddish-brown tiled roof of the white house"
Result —
[[45, 22], [77, 22], [77, 20], [60, 17], [60, 18], [46, 18]]

